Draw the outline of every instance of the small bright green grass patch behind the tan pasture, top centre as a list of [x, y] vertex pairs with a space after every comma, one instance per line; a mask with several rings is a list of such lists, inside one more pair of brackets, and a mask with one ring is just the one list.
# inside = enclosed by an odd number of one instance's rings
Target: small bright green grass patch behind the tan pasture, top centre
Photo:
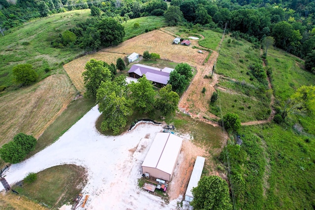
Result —
[[[139, 28], [134, 29], [133, 25], [135, 23], [139, 24]], [[149, 17], [141, 17], [141, 18], [135, 18], [128, 20], [126, 23], [122, 24], [125, 27], [125, 37], [124, 41], [127, 39], [130, 39], [132, 37], [135, 37], [137, 35], [140, 35], [142, 33], [145, 33], [145, 30], [154, 30], [157, 28], [165, 27], [165, 19], [163, 16], [149, 16]]]

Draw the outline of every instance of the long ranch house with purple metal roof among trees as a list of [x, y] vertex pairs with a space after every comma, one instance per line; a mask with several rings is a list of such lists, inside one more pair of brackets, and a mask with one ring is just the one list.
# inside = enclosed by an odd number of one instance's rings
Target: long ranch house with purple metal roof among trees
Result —
[[139, 79], [144, 74], [146, 78], [153, 82], [153, 85], [158, 87], [164, 87], [169, 80], [169, 74], [173, 71], [173, 68], [165, 67], [163, 69], [143, 65], [133, 64], [128, 71], [129, 77]]

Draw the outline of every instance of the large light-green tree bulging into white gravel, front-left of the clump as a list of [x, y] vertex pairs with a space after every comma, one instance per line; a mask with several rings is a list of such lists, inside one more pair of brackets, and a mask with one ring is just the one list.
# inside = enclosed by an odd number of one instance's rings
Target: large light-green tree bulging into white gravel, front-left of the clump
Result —
[[127, 117], [132, 115], [131, 100], [126, 97], [126, 86], [118, 79], [100, 85], [96, 99], [103, 114], [102, 130], [113, 130], [114, 134], [126, 126]]

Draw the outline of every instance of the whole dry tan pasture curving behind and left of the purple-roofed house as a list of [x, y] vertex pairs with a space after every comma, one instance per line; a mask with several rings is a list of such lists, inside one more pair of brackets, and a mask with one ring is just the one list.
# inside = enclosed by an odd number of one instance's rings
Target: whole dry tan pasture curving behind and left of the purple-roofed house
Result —
[[118, 46], [105, 48], [97, 53], [73, 60], [65, 64], [63, 68], [77, 90], [84, 92], [82, 72], [84, 71], [86, 62], [91, 59], [103, 60], [107, 63], [113, 62], [116, 64], [118, 58], [124, 58], [133, 52], [142, 55], [146, 50], [150, 53], [158, 53], [161, 59], [171, 60], [178, 63], [187, 62], [192, 66], [202, 63], [206, 59], [208, 52], [200, 54], [198, 53], [198, 49], [192, 48], [192, 46], [197, 45], [197, 42], [192, 41], [190, 46], [173, 45], [173, 39], [174, 36], [166, 32], [153, 30], [128, 39]]

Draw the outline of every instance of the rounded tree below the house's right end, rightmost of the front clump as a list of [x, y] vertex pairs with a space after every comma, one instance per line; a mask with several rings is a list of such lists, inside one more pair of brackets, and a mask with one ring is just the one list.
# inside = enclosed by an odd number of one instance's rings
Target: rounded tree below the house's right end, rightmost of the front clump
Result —
[[168, 116], [170, 114], [175, 114], [175, 111], [178, 110], [178, 102], [179, 95], [172, 91], [171, 85], [166, 85], [158, 92], [156, 108], [160, 110], [163, 116]]

